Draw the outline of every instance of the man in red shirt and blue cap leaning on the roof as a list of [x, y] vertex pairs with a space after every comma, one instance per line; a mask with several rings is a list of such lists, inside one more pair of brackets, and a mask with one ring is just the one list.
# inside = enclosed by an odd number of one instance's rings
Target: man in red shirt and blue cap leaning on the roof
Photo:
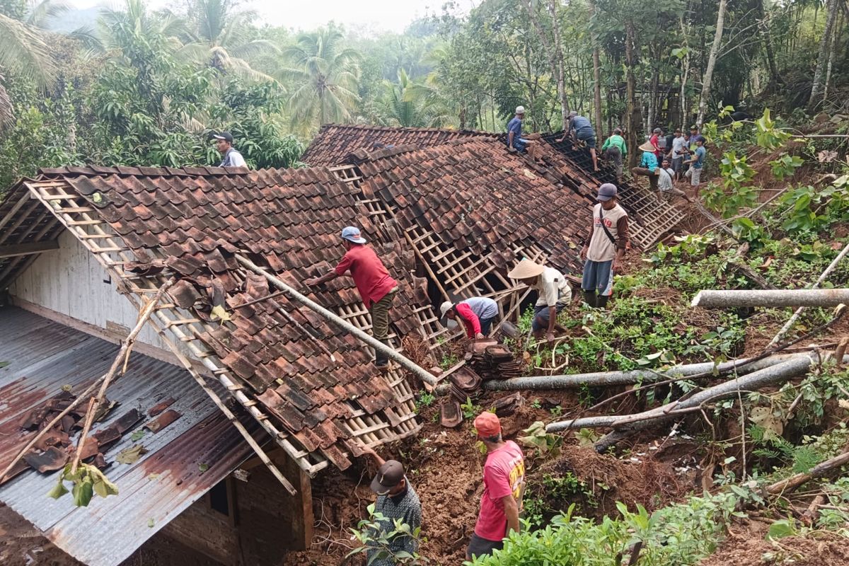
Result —
[[[321, 277], [306, 279], [304, 284], [315, 287], [331, 279], [351, 272], [357, 291], [363, 298], [368, 312], [372, 317], [372, 334], [375, 339], [389, 345], [386, 337], [389, 335], [389, 307], [398, 290], [398, 283], [390, 277], [383, 262], [380, 261], [374, 249], [369, 248], [365, 238], [360, 235], [357, 227], [349, 226], [342, 230], [345, 241], [345, 255], [335, 268]], [[389, 356], [381, 351], [374, 352], [374, 366], [387, 367]]]

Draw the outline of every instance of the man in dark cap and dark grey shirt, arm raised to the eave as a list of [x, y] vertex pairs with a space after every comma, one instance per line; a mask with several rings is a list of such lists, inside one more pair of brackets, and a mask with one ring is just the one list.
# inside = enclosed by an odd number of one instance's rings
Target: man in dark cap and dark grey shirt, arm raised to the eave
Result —
[[[368, 446], [362, 448], [363, 453], [374, 458], [378, 466], [371, 488], [377, 494], [374, 513], [383, 515], [383, 519], [376, 521], [380, 524], [380, 529], [389, 534], [396, 530], [395, 521], [401, 520], [402, 524], [409, 526], [410, 533], [415, 533], [422, 524], [422, 504], [404, 474], [403, 464], [397, 460], [384, 460]], [[391, 539], [388, 546], [386, 549], [368, 549], [366, 561], [369, 566], [394, 566], [394, 558], [398, 552], [414, 555], [419, 552], [419, 537], [399, 533]]]

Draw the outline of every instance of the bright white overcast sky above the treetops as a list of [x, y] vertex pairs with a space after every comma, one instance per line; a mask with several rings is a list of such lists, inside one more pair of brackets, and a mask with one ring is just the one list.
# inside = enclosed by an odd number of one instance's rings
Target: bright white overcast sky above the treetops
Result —
[[[247, 9], [255, 10], [260, 23], [312, 30], [335, 20], [350, 29], [372, 28], [374, 31], [403, 31], [416, 18], [440, 14], [445, 0], [245, 0]], [[457, 0], [464, 9], [475, 0]], [[76, 8], [121, 5], [104, 0], [70, 0]], [[152, 8], [164, 8], [173, 2], [148, 0]]]

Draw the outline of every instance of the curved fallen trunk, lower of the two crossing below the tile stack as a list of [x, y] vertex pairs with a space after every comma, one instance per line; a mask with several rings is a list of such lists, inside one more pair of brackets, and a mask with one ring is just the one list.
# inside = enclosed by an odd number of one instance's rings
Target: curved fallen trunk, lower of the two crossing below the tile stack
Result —
[[[813, 357], [818, 358], [816, 355]], [[552, 433], [561, 430], [596, 429], [601, 427], [622, 429], [623, 431], [625, 429], [647, 429], [661, 421], [677, 417], [681, 412], [698, 410], [700, 406], [708, 402], [729, 399], [738, 395], [740, 391], [755, 391], [767, 385], [779, 384], [807, 373], [808, 368], [814, 362], [813, 357], [805, 354], [791, 356], [790, 359], [782, 361], [775, 366], [765, 367], [743, 377], [730, 379], [722, 384], [703, 389], [684, 401], [673, 401], [672, 403], [649, 411], [624, 416], [610, 415], [567, 419], [557, 423], [550, 423], [545, 430]], [[599, 442], [602, 440], [599, 440]]]

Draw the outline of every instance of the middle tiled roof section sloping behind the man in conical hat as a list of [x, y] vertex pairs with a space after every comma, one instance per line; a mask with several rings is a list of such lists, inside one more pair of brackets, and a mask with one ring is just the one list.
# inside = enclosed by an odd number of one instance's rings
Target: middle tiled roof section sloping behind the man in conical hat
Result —
[[487, 256], [505, 271], [520, 259], [517, 244], [536, 244], [561, 270], [580, 268], [576, 249], [590, 201], [559, 185], [553, 168], [507, 152], [497, 139], [361, 150], [351, 160], [363, 173], [363, 193], [390, 203], [402, 227], [430, 229], [449, 248]]

